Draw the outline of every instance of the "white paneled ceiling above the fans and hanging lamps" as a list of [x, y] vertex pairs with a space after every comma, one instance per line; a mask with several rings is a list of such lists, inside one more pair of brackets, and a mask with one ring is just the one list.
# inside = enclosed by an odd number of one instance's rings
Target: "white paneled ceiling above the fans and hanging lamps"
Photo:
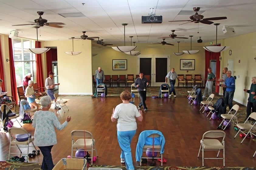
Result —
[[[85, 3], [85, 5], [82, 5]], [[48, 22], [63, 22], [63, 28], [49, 26], [40, 27], [39, 40], [67, 40], [70, 37], [80, 37], [82, 31], [87, 31], [89, 37], [99, 37], [105, 43], [123, 43], [125, 27], [126, 45], [132, 41], [137, 43], [161, 42], [158, 39], [175, 31], [178, 36], [194, 35], [192, 42], [201, 36], [203, 42], [216, 40], [216, 26], [213, 24], [196, 24], [185, 22], [168, 22], [188, 20], [190, 15], [178, 15], [180, 11], [189, 10], [195, 14], [193, 7], [201, 7], [204, 18], [226, 16], [225, 20], [213, 21], [218, 26], [218, 39], [229, 38], [256, 31], [256, 1], [255, 0], [0, 0], [0, 34], [9, 34], [17, 29], [19, 37], [36, 39], [36, 29], [29, 24], [39, 18], [37, 11], [44, 11], [42, 18]], [[156, 15], [163, 16], [161, 24], [142, 24], [141, 16], [147, 16], [150, 8]], [[85, 17], [64, 18], [58, 13], [81, 12]], [[224, 35], [222, 27], [233, 26], [236, 34]], [[197, 33], [199, 30], [199, 33]], [[89, 41], [89, 40], [86, 40]], [[190, 43], [190, 39], [167, 39], [168, 43]]]

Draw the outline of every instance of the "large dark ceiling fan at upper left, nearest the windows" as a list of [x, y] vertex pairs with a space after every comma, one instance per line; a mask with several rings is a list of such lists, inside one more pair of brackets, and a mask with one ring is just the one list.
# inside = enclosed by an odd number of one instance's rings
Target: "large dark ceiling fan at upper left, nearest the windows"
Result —
[[12, 26], [21, 26], [21, 25], [37, 25], [39, 27], [43, 27], [44, 25], [55, 27], [55, 28], [62, 28], [60, 25], [65, 25], [62, 22], [47, 22], [46, 19], [43, 19], [41, 15], [43, 15], [43, 11], [37, 11], [37, 14], [40, 15], [38, 19], [34, 20], [34, 23], [31, 24], [19, 24], [19, 25], [12, 25]]

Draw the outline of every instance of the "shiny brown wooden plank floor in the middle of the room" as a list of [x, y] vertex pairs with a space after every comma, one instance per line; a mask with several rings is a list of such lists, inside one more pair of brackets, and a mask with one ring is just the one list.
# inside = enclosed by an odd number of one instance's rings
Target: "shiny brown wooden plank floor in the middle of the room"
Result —
[[[92, 132], [96, 140], [98, 159], [96, 165], [124, 165], [120, 163], [120, 148], [116, 137], [116, 123], [110, 120], [112, 109], [121, 103], [119, 97], [94, 98], [90, 96], [66, 96], [69, 111], [60, 114], [56, 113], [58, 119], [63, 123], [67, 115], [72, 117], [68, 126], [57, 132], [57, 145], [52, 149], [52, 158], [57, 163], [61, 158], [71, 155], [70, 132], [74, 129], [84, 129]], [[206, 113], [199, 112], [199, 106], [188, 105], [186, 97], [170, 99], [152, 99], [147, 97], [148, 111], [144, 112], [144, 119], [137, 123], [137, 132], [133, 137], [131, 149], [133, 164], [139, 165], [135, 160], [135, 150], [138, 136], [141, 131], [155, 129], [164, 134], [165, 150], [164, 158], [166, 166], [202, 166], [202, 154], [197, 157], [200, 139], [202, 134], [208, 130], [217, 130], [219, 120], [206, 118]], [[139, 99], [135, 97], [135, 104]], [[24, 124], [23, 127], [32, 135], [34, 128], [31, 124]], [[240, 144], [241, 139], [234, 139], [236, 131], [233, 126], [225, 130], [227, 136], [226, 166], [253, 167], [256, 165], [256, 158], [252, 156], [256, 150], [256, 142], [250, 138]], [[9, 151], [9, 134], [0, 132], [1, 147], [0, 160], [5, 160]], [[30, 152], [32, 152], [31, 149]], [[208, 155], [215, 156], [216, 152], [209, 152]], [[222, 154], [221, 154], [222, 155]], [[42, 162], [42, 155], [30, 158], [29, 162]], [[149, 165], [149, 163], [148, 163]], [[161, 165], [157, 162], [157, 165]], [[205, 160], [205, 166], [223, 166], [222, 160]]]

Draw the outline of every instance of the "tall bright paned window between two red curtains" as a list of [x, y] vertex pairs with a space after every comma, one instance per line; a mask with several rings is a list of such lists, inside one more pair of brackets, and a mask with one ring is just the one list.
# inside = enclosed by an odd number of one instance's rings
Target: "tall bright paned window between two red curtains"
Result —
[[17, 87], [22, 86], [22, 79], [28, 73], [32, 73], [31, 80], [36, 83], [36, 54], [27, 51], [34, 47], [34, 41], [17, 38], [12, 43]]

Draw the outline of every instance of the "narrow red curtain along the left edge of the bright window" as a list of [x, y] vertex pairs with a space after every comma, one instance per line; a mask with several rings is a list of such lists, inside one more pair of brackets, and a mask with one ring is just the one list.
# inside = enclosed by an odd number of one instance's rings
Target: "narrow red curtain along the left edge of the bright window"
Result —
[[12, 39], [8, 38], [9, 41], [9, 57], [10, 57], [10, 74], [11, 74], [11, 90], [12, 96], [14, 100], [16, 100], [16, 104], [18, 104], [18, 92], [17, 92], [17, 84], [16, 84], [16, 77], [15, 77], [15, 67], [14, 67], [14, 60], [13, 60], [13, 52], [12, 52]]

